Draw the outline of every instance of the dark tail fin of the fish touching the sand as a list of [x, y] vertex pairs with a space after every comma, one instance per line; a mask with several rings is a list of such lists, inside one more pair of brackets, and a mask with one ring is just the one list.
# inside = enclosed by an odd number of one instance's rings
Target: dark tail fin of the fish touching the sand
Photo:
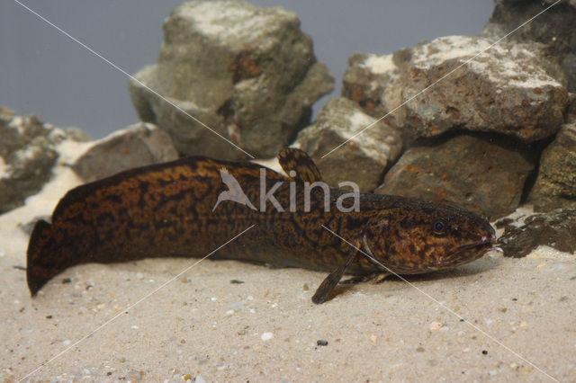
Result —
[[40, 219], [34, 225], [28, 252], [26, 254], [26, 279], [32, 297], [54, 275], [62, 272], [64, 268], [58, 259], [58, 252], [54, 252], [55, 241], [52, 235], [52, 225]]

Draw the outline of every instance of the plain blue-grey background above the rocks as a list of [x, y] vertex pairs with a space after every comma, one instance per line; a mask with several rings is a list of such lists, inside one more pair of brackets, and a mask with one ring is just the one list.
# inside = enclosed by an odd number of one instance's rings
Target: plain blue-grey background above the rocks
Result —
[[[156, 61], [162, 22], [182, 1], [21, 0], [132, 74]], [[475, 35], [491, 15], [491, 0], [258, 1], [297, 13], [317, 58], [336, 77], [339, 94], [353, 52], [392, 53], [420, 40]], [[136, 122], [128, 79], [101, 58], [41, 21], [14, 0], [0, 0], [0, 105], [38, 114], [93, 138]], [[329, 97], [315, 105], [317, 111]]]

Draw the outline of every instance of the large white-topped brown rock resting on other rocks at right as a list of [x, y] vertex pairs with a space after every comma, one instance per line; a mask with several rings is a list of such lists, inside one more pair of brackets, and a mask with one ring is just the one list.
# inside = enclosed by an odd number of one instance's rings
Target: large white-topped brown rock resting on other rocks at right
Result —
[[343, 94], [364, 103], [373, 116], [391, 112], [405, 138], [451, 129], [491, 131], [526, 142], [554, 135], [569, 97], [547, 73], [554, 65], [534, 44], [501, 42], [455, 70], [491, 43], [449, 36], [389, 56], [353, 56]]

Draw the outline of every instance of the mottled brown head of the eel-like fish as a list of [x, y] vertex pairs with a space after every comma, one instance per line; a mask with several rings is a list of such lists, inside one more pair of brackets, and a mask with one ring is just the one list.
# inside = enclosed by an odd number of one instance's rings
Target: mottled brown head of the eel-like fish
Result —
[[444, 204], [403, 200], [378, 214], [364, 236], [365, 250], [392, 272], [417, 274], [472, 262], [493, 249], [485, 218]]

